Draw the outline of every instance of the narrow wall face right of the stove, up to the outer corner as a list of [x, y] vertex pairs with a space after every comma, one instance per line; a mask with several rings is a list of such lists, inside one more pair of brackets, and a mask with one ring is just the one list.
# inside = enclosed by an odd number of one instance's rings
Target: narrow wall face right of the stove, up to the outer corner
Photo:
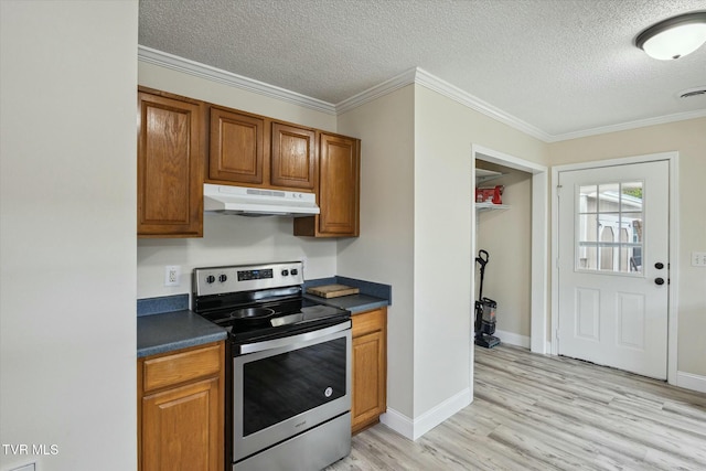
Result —
[[361, 136], [361, 236], [339, 242], [341, 275], [393, 287], [387, 318], [388, 410], [414, 417], [414, 86], [339, 117]]

